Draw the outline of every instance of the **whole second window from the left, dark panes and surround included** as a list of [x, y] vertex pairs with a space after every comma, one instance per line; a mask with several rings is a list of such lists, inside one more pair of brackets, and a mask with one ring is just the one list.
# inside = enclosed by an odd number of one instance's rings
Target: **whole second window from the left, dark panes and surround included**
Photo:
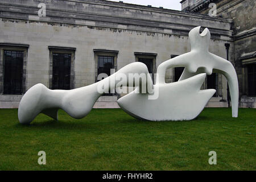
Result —
[[73, 89], [73, 64], [76, 48], [49, 47], [50, 50], [50, 82], [53, 90]]

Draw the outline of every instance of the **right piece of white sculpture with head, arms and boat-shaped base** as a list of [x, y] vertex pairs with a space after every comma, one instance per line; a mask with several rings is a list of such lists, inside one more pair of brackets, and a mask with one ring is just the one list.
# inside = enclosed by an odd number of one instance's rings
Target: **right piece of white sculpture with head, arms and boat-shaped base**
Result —
[[[195, 77], [196, 75], [200, 73], [212, 75], [213, 72], [216, 72], [222, 73], [228, 80], [232, 100], [232, 116], [238, 117], [239, 93], [236, 70], [230, 61], [209, 52], [210, 31], [208, 28], [205, 28], [200, 34], [200, 28], [200, 26], [193, 28], [189, 32], [191, 52], [164, 61], [159, 65], [155, 84], [155, 86], [159, 87], [159, 99], [147, 100], [145, 99], [145, 95], [132, 92], [118, 100], [118, 104], [123, 110], [134, 117], [153, 121], [193, 119], [203, 110], [200, 106], [205, 107], [209, 101], [207, 100], [207, 96], [210, 95], [212, 90], [201, 90], [197, 98], [193, 98], [195, 94], [188, 96], [186, 91], [189, 93], [199, 91], [195, 89], [200, 89], [200, 86], [204, 82], [205, 75], [201, 75], [201, 83], [199, 77]], [[185, 69], [178, 82], [166, 84], [166, 69], [174, 67], [185, 67]], [[197, 82], [195, 82], [195, 80], [192, 82], [192, 80], [188, 80], [188, 78], [197, 78], [198, 80]], [[174, 87], [178, 85], [180, 89], [175, 90]], [[168, 88], [173, 91], [171, 92]], [[205, 98], [203, 93], [205, 94]], [[210, 97], [212, 97], [213, 94], [214, 93], [212, 93]], [[191, 102], [196, 103], [192, 104]], [[193, 107], [195, 110], [192, 110], [192, 108], [188, 109], [188, 107]]]

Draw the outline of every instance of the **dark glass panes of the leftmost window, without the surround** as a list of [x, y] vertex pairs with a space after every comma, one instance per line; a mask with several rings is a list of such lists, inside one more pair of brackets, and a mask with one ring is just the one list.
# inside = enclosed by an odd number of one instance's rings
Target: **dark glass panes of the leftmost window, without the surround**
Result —
[[23, 51], [3, 52], [3, 94], [22, 94]]

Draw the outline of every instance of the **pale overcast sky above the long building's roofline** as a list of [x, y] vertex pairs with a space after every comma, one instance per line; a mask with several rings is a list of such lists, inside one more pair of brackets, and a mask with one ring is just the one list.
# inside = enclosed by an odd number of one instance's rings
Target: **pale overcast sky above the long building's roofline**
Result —
[[[108, 0], [117, 1], [120, 0]], [[164, 7], [166, 9], [181, 10], [181, 0], [121, 0], [125, 3], [137, 4], [137, 5], [151, 5], [153, 7]]]

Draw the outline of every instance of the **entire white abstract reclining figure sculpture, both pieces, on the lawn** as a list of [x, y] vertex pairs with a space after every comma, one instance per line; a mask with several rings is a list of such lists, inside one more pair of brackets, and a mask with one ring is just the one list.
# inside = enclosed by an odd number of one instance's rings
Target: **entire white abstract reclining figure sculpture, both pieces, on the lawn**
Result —
[[[129, 80], [129, 74], [148, 75], [146, 65], [139, 62], [126, 65], [95, 84], [73, 90], [50, 90], [43, 84], [36, 84], [20, 101], [19, 122], [31, 123], [39, 113], [57, 120], [59, 109], [63, 109], [73, 118], [83, 118], [92, 110], [94, 103], [102, 94], [117, 87], [118, 80], [115, 77], [118, 75], [128, 78], [122, 86], [130, 86], [130, 82], [135, 86], [133, 92], [118, 100], [119, 106], [128, 114], [149, 121], [191, 120], [201, 113], [216, 92], [214, 89], [200, 90], [206, 75], [211, 75], [213, 72], [222, 73], [227, 78], [232, 100], [232, 115], [238, 117], [238, 80], [233, 65], [209, 52], [208, 28], [205, 28], [201, 34], [200, 27], [193, 28], [189, 32], [189, 40], [191, 52], [159, 65], [155, 85], [150, 76], [139, 82]], [[174, 67], [185, 67], [185, 69], [179, 81], [166, 84], [166, 69]], [[99, 86], [102, 85], [105, 91], [98, 92]], [[142, 93], [143, 87], [147, 88], [146, 93]], [[154, 95], [157, 97], [153, 98]]]

